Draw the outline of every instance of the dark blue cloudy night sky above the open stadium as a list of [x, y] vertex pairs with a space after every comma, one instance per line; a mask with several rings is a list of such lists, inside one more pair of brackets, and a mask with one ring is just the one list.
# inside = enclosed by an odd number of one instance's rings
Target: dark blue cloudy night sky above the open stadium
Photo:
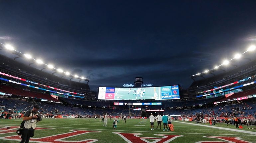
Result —
[[188, 88], [255, 36], [255, 0], [0, 0], [0, 42], [89, 77], [91, 89], [137, 76]]

